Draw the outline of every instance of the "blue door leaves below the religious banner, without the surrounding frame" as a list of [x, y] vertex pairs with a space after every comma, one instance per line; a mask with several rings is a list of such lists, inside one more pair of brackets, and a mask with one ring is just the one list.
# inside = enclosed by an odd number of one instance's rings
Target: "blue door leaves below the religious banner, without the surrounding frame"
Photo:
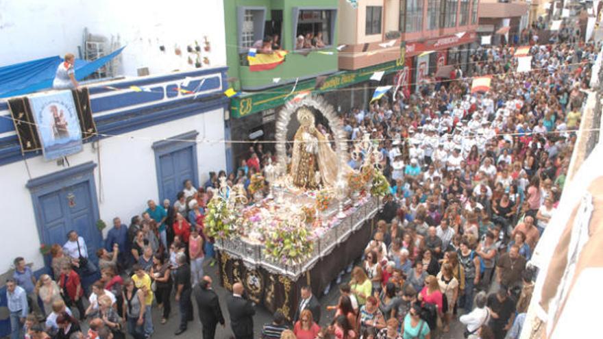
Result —
[[96, 251], [101, 245], [101, 238], [96, 226], [93, 209], [93, 194], [88, 181], [66, 186], [38, 198], [42, 241], [45, 244], [66, 242], [66, 234], [71, 229], [86, 240], [88, 256], [96, 261]]

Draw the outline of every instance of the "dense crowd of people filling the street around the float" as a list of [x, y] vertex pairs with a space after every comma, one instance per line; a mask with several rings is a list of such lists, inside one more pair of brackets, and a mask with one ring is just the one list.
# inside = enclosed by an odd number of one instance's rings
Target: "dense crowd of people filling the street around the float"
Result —
[[[467, 337], [517, 338], [534, 286], [527, 262], [565, 184], [595, 46], [534, 45], [526, 73], [514, 71], [513, 53], [474, 51], [469, 72], [495, 75], [487, 93], [471, 94], [463, 77], [434, 79], [343, 114], [350, 151], [374, 140], [391, 192], [351, 280], [339, 284], [339, 303], [321, 305], [304, 287], [293, 323], [277, 312], [262, 338], [428, 339], [457, 320]], [[114, 218], [98, 260], [76, 231], [53, 245], [50, 275], [36, 279], [16, 258], [7, 281], [11, 338], [149, 338], [151, 313], [166, 323], [173, 297], [175, 334], [193, 320], [196, 300], [204, 338], [213, 338], [225, 320], [204, 273], [214, 264], [204, 213], [221, 177], [247, 188], [274, 160], [262, 144], [249, 153], [199, 188], [185, 181], [176, 201], [147, 201], [129, 226]], [[349, 165], [360, 166], [357, 154]], [[321, 309], [334, 312], [330, 325], [319, 325]], [[254, 305], [242, 284], [227, 310], [235, 338], [253, 338]]]

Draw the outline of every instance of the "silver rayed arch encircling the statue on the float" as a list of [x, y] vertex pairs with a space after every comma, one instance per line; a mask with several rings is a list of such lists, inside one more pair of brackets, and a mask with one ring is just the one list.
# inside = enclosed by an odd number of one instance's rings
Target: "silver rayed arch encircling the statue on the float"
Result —
[[[328, 104], [322, 97], [308, 96], [299, 101], [288, 101], [284, 105], [284, 108], [280, 110], [276, 121], [276, 156], [277, 166], [280, 175], [286, 175], [287, 173], [287, 154], [286, 154], [286, 142], [287, 140], [287, 129], [291, 116], [293, 116], [299, 108], [304, 106], [314, 108], [321, 112], [323, 116], [329, 122], [329, 128], [333, 133], [335, 140], [334, 152], [338, 158], [339, 168], [344, 168], [347, 165], [347, 143], [345, 141], [345, 131], [343, 125], [337, 116], [337, 113], [333, 109], [333, 106]], [[337, 182], [342, 183], [345, 181], [344, 171], [338, 171]]]

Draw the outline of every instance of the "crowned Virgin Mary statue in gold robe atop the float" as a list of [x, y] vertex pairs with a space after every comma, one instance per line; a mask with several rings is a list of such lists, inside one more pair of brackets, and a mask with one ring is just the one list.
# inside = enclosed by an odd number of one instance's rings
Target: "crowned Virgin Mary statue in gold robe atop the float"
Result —
[[298, 188], [315, 189], [335, 186], [339, 159], [328, 139], [316, 129], [314, 114], [308, 108], [297, 110], [299, 129], [293, 139], [291, 177]]

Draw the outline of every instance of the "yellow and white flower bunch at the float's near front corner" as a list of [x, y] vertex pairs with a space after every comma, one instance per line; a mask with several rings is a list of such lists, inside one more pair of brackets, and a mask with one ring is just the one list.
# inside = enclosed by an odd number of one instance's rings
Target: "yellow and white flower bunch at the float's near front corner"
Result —
[[314, 250], [310, 231], [305, 225], [288, 220], [280, 221], [264, 239], [264, 254], [282, 264], [300, 264]]

